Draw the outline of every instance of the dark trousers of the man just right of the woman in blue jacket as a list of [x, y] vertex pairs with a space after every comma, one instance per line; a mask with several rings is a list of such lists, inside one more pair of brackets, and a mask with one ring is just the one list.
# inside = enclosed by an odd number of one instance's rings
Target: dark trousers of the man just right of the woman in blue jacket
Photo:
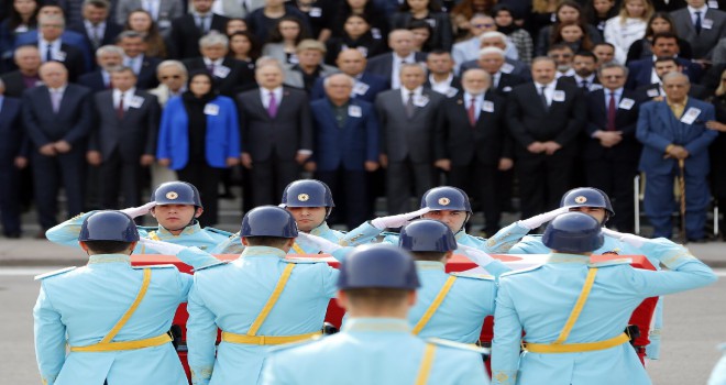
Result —
[[250, 176], [254, 207], [278, 205], [285, 187], [299, 179], [300, 166], [295, 160], [283, 161], [273, 155], [266, 161], [253, 162]]

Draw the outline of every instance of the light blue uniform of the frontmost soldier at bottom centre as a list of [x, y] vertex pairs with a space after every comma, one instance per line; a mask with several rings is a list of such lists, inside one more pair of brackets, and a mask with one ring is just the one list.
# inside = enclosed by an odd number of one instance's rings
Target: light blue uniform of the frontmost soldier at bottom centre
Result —
[[[427, 342], [406, 321], [355, 318], [321, 341], [275, 352], [265, 362], [265, 385], [415, 384]], [[436, 345], [428, 384], [486, 385], [479, 353]]]

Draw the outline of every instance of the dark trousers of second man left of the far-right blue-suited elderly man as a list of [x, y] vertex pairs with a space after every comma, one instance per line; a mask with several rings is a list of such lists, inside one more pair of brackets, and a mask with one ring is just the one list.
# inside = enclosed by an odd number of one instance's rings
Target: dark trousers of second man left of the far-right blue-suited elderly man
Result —
[[531, 154], [517, 158], [521, 218], [556, 209], [572, 187], [573, 148], [562, 147], [553, 155]]

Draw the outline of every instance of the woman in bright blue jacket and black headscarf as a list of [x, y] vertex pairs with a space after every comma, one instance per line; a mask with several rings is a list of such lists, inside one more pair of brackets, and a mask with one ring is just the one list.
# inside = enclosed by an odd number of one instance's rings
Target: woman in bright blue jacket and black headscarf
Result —
[[[162, 114], [156, 157], [180, 180], [199, 187], [207, 215], [201, 226], [217, 222], [217, 195], [222, 169], [240, 158], [240, 128], [232, 99], [219, 96], [206, 72], [193, 73], [187, 91], [169, 99]], [[200, 218], [201, 219], [201, 218]]]

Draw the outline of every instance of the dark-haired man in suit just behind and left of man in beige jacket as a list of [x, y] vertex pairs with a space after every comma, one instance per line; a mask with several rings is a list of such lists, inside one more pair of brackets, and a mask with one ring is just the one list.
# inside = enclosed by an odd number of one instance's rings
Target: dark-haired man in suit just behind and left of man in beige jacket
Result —
[[150, 89], [158, 86], [156, 66], [162, 61], [144, 55], [144, 36], [139, 32], [124, 31], [119, 35], [117, 44], [123, 50], [123, 65], [136, 75], [136, 88]]

